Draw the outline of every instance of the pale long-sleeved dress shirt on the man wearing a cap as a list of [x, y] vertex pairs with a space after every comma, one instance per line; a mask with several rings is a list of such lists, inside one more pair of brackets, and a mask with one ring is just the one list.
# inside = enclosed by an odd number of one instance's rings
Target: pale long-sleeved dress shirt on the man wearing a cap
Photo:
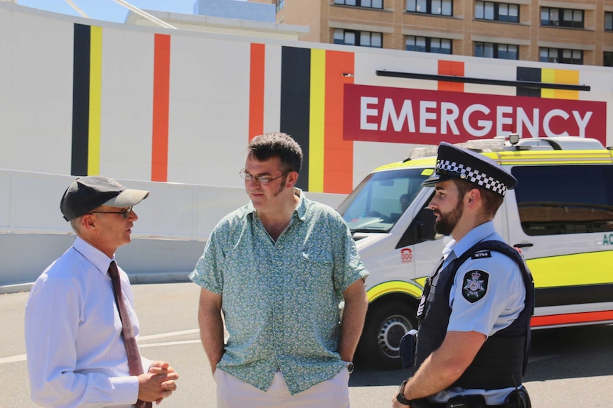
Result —
[[[81, 238], [38, 277], [26, 304], [31, 397], [43, 407], [130, 407], [138, 379], [129, 376], [122, 322], [107, 273], [113, 258]], [[121, 268], [134, 335], [139, 321]], [[150, 360], [143, 358], [143, 369]]]

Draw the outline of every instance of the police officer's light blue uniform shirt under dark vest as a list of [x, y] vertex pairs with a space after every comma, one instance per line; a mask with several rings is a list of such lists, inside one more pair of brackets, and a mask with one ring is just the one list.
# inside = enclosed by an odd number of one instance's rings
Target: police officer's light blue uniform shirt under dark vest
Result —
[[[444, 266], [459, 258], [474, 244], [481, 241], [503, 241], [496, 233], [492, 221], [481, 224], [467, 233], [459, 242], [451, 241], [443, 251]], [[491, 336], [510, 325], [523, 309], [526, 289], [518, 265], [508, 256], [491, 251], [477, 259], [468, 258], [455, 276], [449, 294], [452, 314], [447, 331], [477, 331]], [[487, 404], [502, 404], [513, 388], [481, 390]], [[456, 395], [474, 394], [459, 387], [439, 392], [432, 398], [445, 402]]]

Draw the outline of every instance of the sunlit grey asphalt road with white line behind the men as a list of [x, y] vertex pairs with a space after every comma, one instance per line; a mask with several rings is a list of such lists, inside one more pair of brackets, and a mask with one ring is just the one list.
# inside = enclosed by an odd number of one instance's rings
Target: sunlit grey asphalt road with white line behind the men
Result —
[[[178, 390], [161, 407], [215, 407], [215, 383], [199, 341], [199, 289], [192, 283], [134, 285], [148, 358], [168, 360], [181, 375]], [[28, 293], [0, 294], [1, 408], [36, 407], [30, 401], [23, 341]], [[356, 368], [351, 407], [390, 407], [403, 370]], [[533, 332], [526, 387], [533, 407], [610, 407], [613, 402], [613, 325]]]

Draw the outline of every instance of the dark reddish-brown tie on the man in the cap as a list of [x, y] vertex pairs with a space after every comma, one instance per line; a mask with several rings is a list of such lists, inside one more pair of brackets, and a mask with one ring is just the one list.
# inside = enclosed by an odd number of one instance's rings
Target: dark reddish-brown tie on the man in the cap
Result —
[[[126, 302], [122, 294], [122, 281], [119, 279], [119, 270], [117, 269], [117, 263], [112, 261], [109, 266], [109, 276], [113, 283], [113, 291], [115, 295], [115, 302], [117, 303], [117, 310], [119, 310], [119, 319], [122, 320], [122, 334], [124, 336], [124, 343], [126, 345], [126, 352], [128, 355], [128, 368], [130, 375], [141, 375], [143, 372], [143, 364], [141, 360], [141, 353], [139, 352], [139, 345], [136, 337], [134, 337], [134, 329], [132, 329], [132, 321], [130, 321], [130, 315], [126, 307]], [[151, 402], [144, 402], [140, 399], [134, 404], [137, 408], [151, 408]]]

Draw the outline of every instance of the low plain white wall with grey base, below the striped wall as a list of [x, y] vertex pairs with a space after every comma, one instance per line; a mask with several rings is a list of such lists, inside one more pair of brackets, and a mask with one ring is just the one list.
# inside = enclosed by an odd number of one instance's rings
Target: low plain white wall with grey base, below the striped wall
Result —
[[[0, 170], [0, 293], [7, 285], [33, 282], [75, 238], [60, 211], [60, 199], [75, 177]], [[117, 250], [132, 278], [154, 275], [186, 279], [218, 221], [247, 204], [245, 190], [198, 184], [117, 180], [151, 194], [134, 207], [132, 243]], [[307, 193], [330, 206], [343, 194]]]

